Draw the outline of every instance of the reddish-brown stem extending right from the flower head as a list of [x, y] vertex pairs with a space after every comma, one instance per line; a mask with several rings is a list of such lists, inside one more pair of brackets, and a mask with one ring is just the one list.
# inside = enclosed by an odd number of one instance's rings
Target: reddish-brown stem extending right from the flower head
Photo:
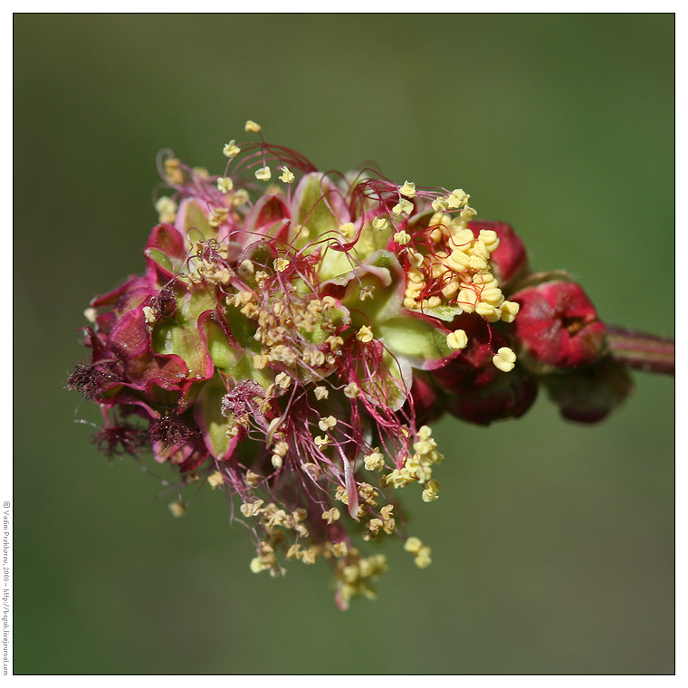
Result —
[[607, 325], [612, 357], [629, 368], [674, 375], [674, 339]]

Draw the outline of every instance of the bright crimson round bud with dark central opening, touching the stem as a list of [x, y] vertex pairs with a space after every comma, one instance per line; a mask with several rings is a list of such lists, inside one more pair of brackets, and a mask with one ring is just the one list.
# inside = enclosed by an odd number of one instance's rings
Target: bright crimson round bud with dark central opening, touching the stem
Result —
[[595, 363], [606, 351], [605, 325], [576, 282], [543, 282], [510, 297], [521, 360], [536, 373]]

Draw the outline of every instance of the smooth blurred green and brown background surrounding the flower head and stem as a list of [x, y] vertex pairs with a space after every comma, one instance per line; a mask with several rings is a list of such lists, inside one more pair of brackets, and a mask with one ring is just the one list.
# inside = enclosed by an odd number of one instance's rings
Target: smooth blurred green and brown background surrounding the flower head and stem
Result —
[[463, 186], [605, 320], [674, 333], [674, 16], [14, 15], [14, 671], [671, 673], [674, 381], [594, 427], [544, 395], [445, 419], [433, 548], [397, 542], [377, 601], [325, 566], [253, 575], [203, 492], [89, 442], [62, 389], [91, 296], [143, 268], [155, 156], [219, 171], [245, 119], [321, 168]]

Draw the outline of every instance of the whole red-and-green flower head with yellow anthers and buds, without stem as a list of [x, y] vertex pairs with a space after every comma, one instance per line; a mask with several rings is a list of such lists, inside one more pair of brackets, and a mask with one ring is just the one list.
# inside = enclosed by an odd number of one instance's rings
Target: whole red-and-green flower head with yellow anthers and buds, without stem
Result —
[[91, 301], [67, 386], [100, 405], [106, 454], [177, 469], [175, 515], [190, 483], [226, 492], [253, 571], [327, 559], [346, 608], [386, 569], [366, 541], [431, 561], [395, 499], [439, 496], [430, 421], [521, 416], [540, 385], [594, 421], [630, 385], [578, 284], [531, 273], [462, 189], [323, 174], [246, 130], [221, 176], [161, 155], [146, 271]]

